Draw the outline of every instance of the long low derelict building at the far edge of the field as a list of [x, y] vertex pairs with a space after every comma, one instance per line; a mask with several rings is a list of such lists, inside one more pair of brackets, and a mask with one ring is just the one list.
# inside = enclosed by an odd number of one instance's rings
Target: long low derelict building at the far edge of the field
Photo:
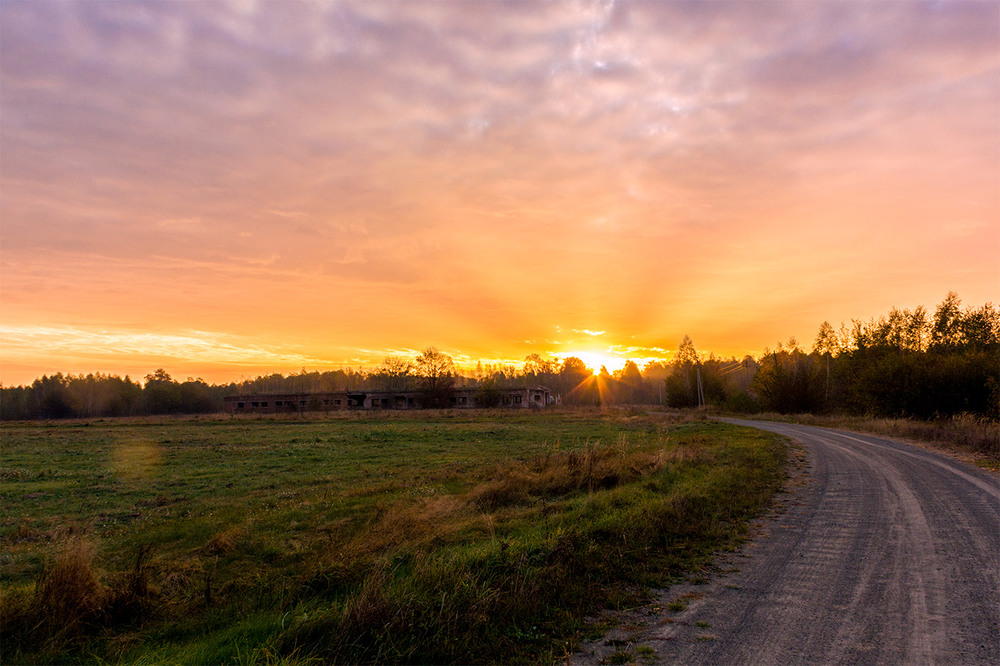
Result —
[[[339, 410], [424, 409], [429, 396], [424, 391], [342, 391], [336, 393], [255, 393], [227, 395], [223, 409], [231, 414], [279, 414], [286, 412], [333, 412]], [[440, 400], [439, 400], [440, 401]], [[450, 409], [508, 407], [529, 409], [556, 403], [544, 387], [512, 389], [451, 389], [443, 406]]]

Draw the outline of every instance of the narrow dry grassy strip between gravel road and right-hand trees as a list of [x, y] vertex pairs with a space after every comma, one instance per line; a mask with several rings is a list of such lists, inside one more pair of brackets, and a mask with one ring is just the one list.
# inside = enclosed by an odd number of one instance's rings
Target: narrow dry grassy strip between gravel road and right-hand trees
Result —
[[825, 428], [839, 428], [870, 433], [883, 437], [927, 443], [970, 456], [980, 467], [1000, 470], [1000, 423], [971, 414], [947, 419], [875, 418], [869, 416], [838, 416], [814, 414], [759, 414], [741, 416], [765, 421], [785, 421]]

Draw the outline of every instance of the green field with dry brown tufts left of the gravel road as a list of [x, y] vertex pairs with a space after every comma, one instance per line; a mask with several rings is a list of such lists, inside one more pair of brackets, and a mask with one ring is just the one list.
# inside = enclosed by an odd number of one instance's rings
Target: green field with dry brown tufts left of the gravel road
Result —
[[0, 428], [3, 663], [552, 661], [733, 544], [785, 461], [624, 412]]

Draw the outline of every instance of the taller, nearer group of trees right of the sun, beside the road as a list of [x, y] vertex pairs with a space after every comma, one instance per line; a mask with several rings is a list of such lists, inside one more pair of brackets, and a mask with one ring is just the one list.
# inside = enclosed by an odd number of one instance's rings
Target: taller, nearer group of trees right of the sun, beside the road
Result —
[[823, 322], [809, 352], [791, 338], [758, 358], [702, 360], [685, 343], [666, 380], [673, 407], [1000, 418], [1000, 312], [991, 303], [963, 308], [954, 292], [933, 314], [892, 308], [839, 329]]

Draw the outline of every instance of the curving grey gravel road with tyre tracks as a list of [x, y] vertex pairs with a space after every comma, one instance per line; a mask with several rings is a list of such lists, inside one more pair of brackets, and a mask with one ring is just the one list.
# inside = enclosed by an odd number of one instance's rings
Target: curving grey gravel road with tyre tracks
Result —
[[617, 616], [573, 664], [1000, 664], [997, 477], [877, 437], [726, 420], [800, 443], [788, 492], [718, 575]]

